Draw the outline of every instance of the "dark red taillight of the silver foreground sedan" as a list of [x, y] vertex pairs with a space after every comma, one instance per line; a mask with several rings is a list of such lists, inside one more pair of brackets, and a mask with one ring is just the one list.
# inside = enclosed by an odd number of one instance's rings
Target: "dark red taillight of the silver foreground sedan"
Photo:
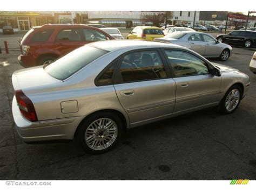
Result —
[[30, 98], [28, 98], [22, 90], [16, 90], [15, 97], [22, 116], [31, 122], [38, 121], [35, 107], [31, 102]]

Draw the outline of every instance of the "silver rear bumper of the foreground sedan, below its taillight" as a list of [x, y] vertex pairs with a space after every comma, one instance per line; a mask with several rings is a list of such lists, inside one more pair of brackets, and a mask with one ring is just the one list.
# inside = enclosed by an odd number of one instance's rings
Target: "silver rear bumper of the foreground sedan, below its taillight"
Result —
[[30, 122], [19, 111], [16, 98], [12, 100], [12, 115], [19, 136], [25, 142], [73, 139], [84, 117], [70, 117], [48, 121]]

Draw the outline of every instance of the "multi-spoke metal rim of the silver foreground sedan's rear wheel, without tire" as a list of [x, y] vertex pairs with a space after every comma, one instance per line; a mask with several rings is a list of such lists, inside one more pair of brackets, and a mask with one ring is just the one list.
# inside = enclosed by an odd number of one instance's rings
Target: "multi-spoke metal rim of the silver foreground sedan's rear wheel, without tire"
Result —
[[85, 143], [93, 150], [104, 150], [117, 138], [117, 124], [110, 118], [92, 122], [85, 131]]

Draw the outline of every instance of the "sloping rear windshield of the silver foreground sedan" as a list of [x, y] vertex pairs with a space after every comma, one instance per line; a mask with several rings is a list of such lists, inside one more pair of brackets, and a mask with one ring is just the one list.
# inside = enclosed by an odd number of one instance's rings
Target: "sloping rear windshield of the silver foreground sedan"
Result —
[[44, 69], [52, 77], [58, 80], [65, 80], [106, 53], [107, 51], [102, 49], [85, 45], [52, 62]]

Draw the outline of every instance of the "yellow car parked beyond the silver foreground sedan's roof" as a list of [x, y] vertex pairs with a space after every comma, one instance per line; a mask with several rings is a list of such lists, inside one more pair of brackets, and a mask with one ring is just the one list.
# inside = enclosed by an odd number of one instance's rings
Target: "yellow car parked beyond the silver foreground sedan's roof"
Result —
[[136, 26], [127, 36], [127, 39], [153, 40], [164, 37], [164, 32], [156, 26]]

